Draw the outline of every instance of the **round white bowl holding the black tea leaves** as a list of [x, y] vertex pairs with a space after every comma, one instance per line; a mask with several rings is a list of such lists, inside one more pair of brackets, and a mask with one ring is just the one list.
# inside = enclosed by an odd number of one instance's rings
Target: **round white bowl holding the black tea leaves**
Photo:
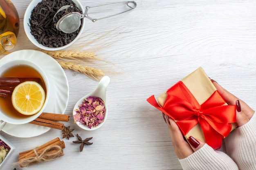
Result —
[[[82, 4], [79, 2], [79, 0], [72, 0], [76, 6], [81, 9], [81, 11], [84, 13], [84, 9], [83, 9], [83, 6]], [[76, 42], [76, 40], [79, 39], [80, 35], [82, 34], [83, 32], [83, 28], [84, 28], [84, 23], [85, 23], [85, 18], [83, 18], [82, 20], [82, 26], [81, 26], [81, 29], [78, 33], [78, 35], [76, 36], [76, 38], [74, 38], [74, 40], [72, 42], [70, 42], [69, 44], [65, 45], [65, 46], [61, 46], [61, 47], [55, 47], [55, 48], [51, 48], [51, 47], [47, 47], [47, 46], [43, 46], [42, 44], [39, 44], [38, 41], [34, 38], [34, 36], [30, 33], [31, 32], [31, 29], [30, 29], [30, 26], [29, 26], [29, 19], [30, 19], [30, 16], [31, 16], [31, 11], [36, 7], [36, 5], [39, 3], [39, 2], [42, 2], [42, 0], [32, 0], [29, 4], [29, 6], [27, 7], [26, 11], [25, 11], [25, 15], [24, 15], [24, 20], [23, 20], [23, 24], [24, 24], [24, 30], [25, 30], [25, 33], [27, 35], [27, 37], [29, 38], [29, 40], [37, 47], [39, 47], [40, 49], [43, 49], [43, 50], [48, 50], [48, 51], [56, 51], [56, 50], [61, 50], [61, 49], [65, 49], [67, 48], [68, 46], [72, 45], [74, 42]]]

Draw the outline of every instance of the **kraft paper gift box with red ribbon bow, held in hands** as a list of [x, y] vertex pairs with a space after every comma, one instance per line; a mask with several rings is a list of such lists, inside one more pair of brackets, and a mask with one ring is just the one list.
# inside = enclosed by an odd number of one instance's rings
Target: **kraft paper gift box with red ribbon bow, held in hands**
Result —
[[193, 136], [219, 149], [222, 139], [236, 128], [236, 106], [227, 105], [202, 67], [155, 100], [147, 101], [174, 119], [187, 139]]

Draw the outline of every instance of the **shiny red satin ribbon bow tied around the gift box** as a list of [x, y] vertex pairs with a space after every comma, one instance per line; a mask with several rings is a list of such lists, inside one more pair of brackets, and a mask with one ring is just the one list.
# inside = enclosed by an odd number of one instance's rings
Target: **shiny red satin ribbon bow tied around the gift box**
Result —
[[200, 105], [183, 82], [177, 82], [168, 89], [163, 107], [159, 106], [154, 95], [147, 101], [176, 120], [183, 135], [200, 124], [206, 143], [213, 149], [221, 148], [222, 139], [231, 131], [231, 123], [236, 122], [236, 107], [223, 106], [226, 102], [218, 91]]

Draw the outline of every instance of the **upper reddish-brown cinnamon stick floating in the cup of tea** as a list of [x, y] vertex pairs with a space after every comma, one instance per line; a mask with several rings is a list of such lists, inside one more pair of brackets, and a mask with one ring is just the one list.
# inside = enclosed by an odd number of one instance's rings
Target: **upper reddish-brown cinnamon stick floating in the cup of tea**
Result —
[[17, 78], [17, 77], [0, 77], [0, 86], [17, 86], [18, 84], [26, 81], [40, 82], [40, 78]]

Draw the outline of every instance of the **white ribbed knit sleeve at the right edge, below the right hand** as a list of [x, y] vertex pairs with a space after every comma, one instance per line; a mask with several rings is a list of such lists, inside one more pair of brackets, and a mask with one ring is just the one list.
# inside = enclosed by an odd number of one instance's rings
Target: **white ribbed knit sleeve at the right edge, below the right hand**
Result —
[[225, 138], [227, 154], [239, 170], [256, 170], [256, 114], [250, 121], [230, 132]]

